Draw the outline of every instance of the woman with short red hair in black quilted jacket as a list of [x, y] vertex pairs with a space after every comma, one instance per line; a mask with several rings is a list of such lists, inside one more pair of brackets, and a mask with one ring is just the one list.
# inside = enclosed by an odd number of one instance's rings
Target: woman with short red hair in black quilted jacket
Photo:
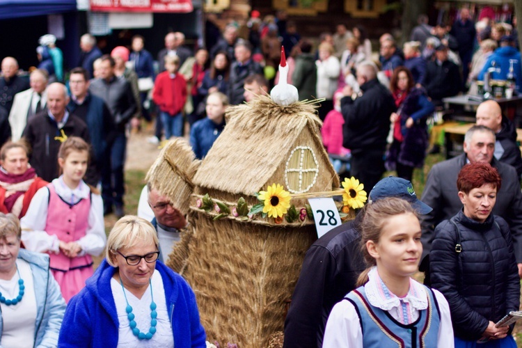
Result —
[[429, 253], [432, 287], [450, 303], [455, 347], [516, 347], [514, 324], [495, 325], [520, 306], [509, 226], [491, 214], [500, 184], [496, 168], [466, 164], [457, 177], [463, 208], [435, 228]]

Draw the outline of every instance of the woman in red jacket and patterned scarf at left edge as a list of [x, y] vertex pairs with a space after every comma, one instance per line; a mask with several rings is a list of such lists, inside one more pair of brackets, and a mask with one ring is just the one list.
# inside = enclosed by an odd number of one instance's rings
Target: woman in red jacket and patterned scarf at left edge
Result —
[[36, 191], [47, 181], [29, 166], [29, 150], [23, 141], [8, 141], [0, 149], [0, 212], [22, 218]]

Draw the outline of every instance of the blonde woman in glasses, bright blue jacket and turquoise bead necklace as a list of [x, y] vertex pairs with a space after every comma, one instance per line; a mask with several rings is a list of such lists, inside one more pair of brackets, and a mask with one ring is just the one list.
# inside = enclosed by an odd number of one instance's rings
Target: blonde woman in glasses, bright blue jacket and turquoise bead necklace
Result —
[[158, 256], [148, 221], [120, 219], [105, 260], [68, 304], [58, 346], [205, 347], [191, 287]]

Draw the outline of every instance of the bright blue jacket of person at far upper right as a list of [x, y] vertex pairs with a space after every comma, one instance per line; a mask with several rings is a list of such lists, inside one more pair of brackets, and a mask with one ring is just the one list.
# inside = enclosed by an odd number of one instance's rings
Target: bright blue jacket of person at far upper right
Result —
[[484, 64], [484, 68], [480, 72], [478, 79], [480, 81], [484, 80], [484, 74], [487, 72], [489, 68], [493, 66], [493, 61], [495, 62], [495, 67], [500, 68], [500, 72], [493, 72], [491, 77], [493, 79], [505, 80], [507, 79], [507, 73], [509, 72], [509, 60], [515, 60], [513, 63], [513, 70], [516, 76], [516, 89], [521, 91], [522, 89], [522, 65], [521, 65], [521, 54], [515, 48], [511, 46], [500, 47], [489, 56], [486, 64]]

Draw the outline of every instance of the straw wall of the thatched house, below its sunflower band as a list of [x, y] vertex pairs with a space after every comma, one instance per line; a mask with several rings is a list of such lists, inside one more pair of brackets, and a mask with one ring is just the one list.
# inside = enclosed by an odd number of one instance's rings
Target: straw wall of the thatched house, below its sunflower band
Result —
[[194, 218], [184, 277], [196, 292], [207, 340], [267, 347], [269, 336], [283, 330], [285, 304], [317, 239], [315, 228], [212, 221], [204, 213]]

